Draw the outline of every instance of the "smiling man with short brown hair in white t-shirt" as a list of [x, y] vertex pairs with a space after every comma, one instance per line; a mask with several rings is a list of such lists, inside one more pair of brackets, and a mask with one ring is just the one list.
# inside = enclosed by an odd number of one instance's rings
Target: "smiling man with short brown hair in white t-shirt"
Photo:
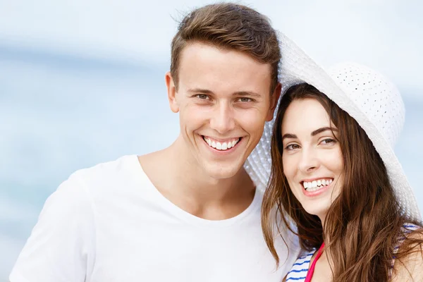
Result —
[[11, 282], [281, 281], [298, 250], [288, 235], [278, 241], [276, 267], [262, 192], [243, 168], [273, 117], [280, 59], [257, 11], [192, 11], [166, 73], [177, 140], [73, 173], [44, 205]]

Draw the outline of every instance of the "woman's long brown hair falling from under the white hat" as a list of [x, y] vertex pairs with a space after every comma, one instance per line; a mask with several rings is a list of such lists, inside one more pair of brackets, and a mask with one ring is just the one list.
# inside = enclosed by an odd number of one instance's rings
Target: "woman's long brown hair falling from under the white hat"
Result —
[[[336, 139], [343, 155], [343, 187], [326, 214], [324, 228], [318, 216], [302, 208], [283, 174], [283, 116], [290, 102], [306, 98], [316, 99], [326, 109], [338, 128]], [[329, 252], [332, 281], [336, 282], [388, 281], [394, 257], [401, 261], [416, 246], [422, 250], [421, 236], [407, 237], [394, 255], [398, 239], [407, 232], [404, 223], [417, 226], [422, 223], [402, 212], [384, 161], [360, 125], [325, 94], [306, 83], [290, 87], [281, 98], [271, 138], [271, 176], [262, 204], [262, 229], [278, 264], [274, 247], [275, 217], [282, 219], [278, 228], [288, 228], [298, 235], [304, 250], [318, 248], [324, 238], [330, 238], [330, 242], [325, 241], [325, 252]]]

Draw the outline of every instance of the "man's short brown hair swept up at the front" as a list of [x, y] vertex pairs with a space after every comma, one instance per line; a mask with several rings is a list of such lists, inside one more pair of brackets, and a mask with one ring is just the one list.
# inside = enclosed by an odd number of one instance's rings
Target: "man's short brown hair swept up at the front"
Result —
[[278, 84], [281, 49], [270, 20], [261, 13], [238, 4], [212, 4], [191, 11], [178, 27], [171, 45], [171, 75], [178, 89], [181, 51], [190, 42], [244, 52], [271, 65], [271, 93]]

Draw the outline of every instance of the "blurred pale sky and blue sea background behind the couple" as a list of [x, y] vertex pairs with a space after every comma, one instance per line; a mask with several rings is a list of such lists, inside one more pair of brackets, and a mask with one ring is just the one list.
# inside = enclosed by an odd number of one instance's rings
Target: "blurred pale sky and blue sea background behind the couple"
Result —
[[[177, 20], [213, 1], [0, 0], [0, 281], [44, 201], [78, 168], [173, 142], [164, 74]], [[423, 210], [423, 4], [238, 1], [323, 66], [387, 75], [406, 117], [396, 153]]]

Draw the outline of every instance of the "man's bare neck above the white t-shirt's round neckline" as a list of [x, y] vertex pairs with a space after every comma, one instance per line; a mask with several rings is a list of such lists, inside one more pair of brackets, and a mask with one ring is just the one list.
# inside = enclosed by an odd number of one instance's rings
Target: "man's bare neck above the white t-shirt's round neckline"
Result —
[[215, 179], [187, 151], [183, 140], [176, 140], [164, 150], [140, 157], [145, 173], [164, 197], [210, 220], [231, 218], [251, 204], [255, 186], [244, 168], [231, 178]]

